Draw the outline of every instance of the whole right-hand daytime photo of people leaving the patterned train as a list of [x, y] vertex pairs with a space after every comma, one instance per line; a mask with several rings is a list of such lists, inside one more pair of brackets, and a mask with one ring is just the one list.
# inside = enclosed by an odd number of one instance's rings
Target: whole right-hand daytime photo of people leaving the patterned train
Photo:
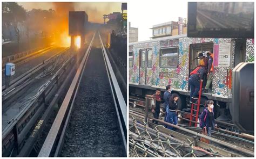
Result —
[[254, 2], [129, 2], [129, 157], [254, 157]]

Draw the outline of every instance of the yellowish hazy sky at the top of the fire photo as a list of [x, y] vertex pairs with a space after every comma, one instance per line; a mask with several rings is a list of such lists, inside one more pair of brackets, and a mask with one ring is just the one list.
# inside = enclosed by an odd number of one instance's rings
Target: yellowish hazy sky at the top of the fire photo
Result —
[[[51, 2], [18, 2], [26, 10], [55, 9]], [[121, 12], [121, 2], [74, 2], [76, 11], [86, 11], [89, 21], [104, 23], [103, 15], [112, 12]]]

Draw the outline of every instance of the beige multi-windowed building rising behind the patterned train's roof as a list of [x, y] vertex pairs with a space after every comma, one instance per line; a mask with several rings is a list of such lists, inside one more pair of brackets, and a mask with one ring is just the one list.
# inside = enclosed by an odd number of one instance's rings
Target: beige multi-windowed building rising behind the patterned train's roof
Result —
[[180, 21], [169, 21], [153, 25], [152, 28], [152, 39], [169, 37], [172, 35], [186, 34], [187, 33], [187, 22], [186, 19], [179, 19]]

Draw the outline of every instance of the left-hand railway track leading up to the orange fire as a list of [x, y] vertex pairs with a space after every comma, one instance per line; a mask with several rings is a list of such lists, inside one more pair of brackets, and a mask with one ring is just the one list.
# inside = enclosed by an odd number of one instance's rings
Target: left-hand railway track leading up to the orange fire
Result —
[[69, 48], [62, 49], [2, 91], [3, 156], [16, 156], [23, 148], [31, 127], [49, 105], [72, 62]]

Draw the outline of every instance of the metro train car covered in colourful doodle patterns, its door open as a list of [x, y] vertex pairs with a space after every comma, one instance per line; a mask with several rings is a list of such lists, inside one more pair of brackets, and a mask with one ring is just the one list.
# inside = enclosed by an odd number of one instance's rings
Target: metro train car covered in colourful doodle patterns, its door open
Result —
[[213, 51], [213, 81], [211, 91], [202, 93], [201, 108], [207, 99], [218, 105], [219, 120], [231, 117], [232, 69], [240, 62], [254, 62], [254, 39], [188, 38], [186, 34], [133, 42], [129, 45], [130, 95], [165, 91], [180, 97], [178, 109], [186, 109], [190, 90], [188, 78], [198, 65], [199, 53]]

